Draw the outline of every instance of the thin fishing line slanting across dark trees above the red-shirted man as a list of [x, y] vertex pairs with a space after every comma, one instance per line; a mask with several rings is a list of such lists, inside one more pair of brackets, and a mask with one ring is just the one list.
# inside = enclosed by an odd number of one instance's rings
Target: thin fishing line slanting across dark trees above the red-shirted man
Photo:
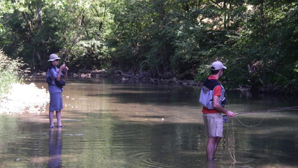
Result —
[[[158, 12], [158, 11], [152, 9], [152, 8], [150, 8], [150, 7], [147, 6], [147, 5], [144, 5], [144, 4], [140, 3], [140, 2], [138, 2], [138, 0], [135, 0], [134, 2], [139, 3], [141, 6], [144, 6], [144, 7], [148, 8], [149, 10], [151, 10], [151, 11], [157, 13], [158, 15], [163, 16], [164, 18], [169, 19], [170, 21], [176, 23], [177, 25], [180, 25], [180, 26], [182, 26], [183, 28], [186, 28], [186, 29], [192, 31], [192, 32], [194, 32], [194, 33], [200, 35], [200, 36], [203, 37], [203, 38], [208, 39], [209, 41], [211, 41], [211, 42], [213, 42], [213, 43], [215, 43], [215, 44], [221, 46], [222, 48], [224, 48], [224, 49], [230, 51], [231, 53], [234, 53], [234, 54], [237, 55], [237, 56], [240, 56], [240, 57], [242, 57], [242, 58], [245, 58], [246, 60], [249, 60], [249, 61], [253, 62], [253, 60], [251, 60], [251, 59], [249, 59], [249, 58], [247, 58], [247, 57], [245, 57], [245, 56], [242, 56], [242, 55], [238, 54], [237, 52], [234, 52], [233, 50], [231, 50], [230, 48], [226, 47], [225, 45], [223, 45], [223, 44], [219, 44], [219, 43], [217, 43], [216, 41], [214, 41], [214, 40], [212, 40], [212, 39], [210, 39], [210, 38], [204, 36], [203, 34], [197, 32], [197, 31], [195, 31], [195, 30], [193, 30], [193, 29], [191, 29], [191, 28], [188, 28], [188, 27], [186, 27], [186, 26], [184, 26], [184, 25], [179, 24], [177, 21], [174, 21], [173, 19], [167, 17], [166, 15], [164, 15], [164, 14], [162, 14], [162, 13], [160, 13], [160, 12]], [[285, 76], [283, 76], [283, 75], [281, 75], [281, 74], [279, 74], [279, 73], [277, 73], [277, 72], [275, 72], [275, 71], [272, 71], [271, 69], [269, 69], [269, 68], [267, 68], [267, 67], [265, 67], [265, 66], [263, 66], [263, 65], [259, 65], [259, 66], [261, 66], [262, 68], [264, 68], [264, 69], [266, 69], [266, 70], [268, 70], [268, 71], [270, 71], [270, 72], [272, 72], [272, 73], [274, 73], [274, 74], [276, 74], [276, 75], [279, 75], [279, 76], [283, 77], [284, 79], [288, 79], [288, 78], [286, 78]]]

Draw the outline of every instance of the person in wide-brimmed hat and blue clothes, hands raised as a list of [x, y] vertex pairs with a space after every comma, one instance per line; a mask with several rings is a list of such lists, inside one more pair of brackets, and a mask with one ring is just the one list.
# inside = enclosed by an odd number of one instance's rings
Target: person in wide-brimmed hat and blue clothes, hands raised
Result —
[[49, 119], [50, 119], [50, 128], [55, 128], [54, 126], [54, 111], [56, 111], [57, 117], [57, 127], [63, 127], [61, 124], [61, 110], [63, 109], [62, 102], [62, 86], [59, 86], [55, 81], [60, 81], [61, 78], [67, 76], [68, 67], [65, 64], [62, 64], [60, 68], [57, 68], [57, 65], [60, 61], [60, 57], [56, 54], [51, 54], [48, 62], [51, 62], [50, 67], [48, 68], [46, 81], [48, 83], [48, 88], [50, 92], [50, 108], [49, 108]]

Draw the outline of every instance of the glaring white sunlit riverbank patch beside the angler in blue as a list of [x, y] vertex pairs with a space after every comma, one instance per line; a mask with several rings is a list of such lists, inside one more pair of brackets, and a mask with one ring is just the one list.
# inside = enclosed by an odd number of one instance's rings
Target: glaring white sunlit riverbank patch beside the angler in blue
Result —
[[46, 112], [50, 95], [45, 88], [39, 89], [34, 83], [12, 84], [10, 91], [0, 100], [0, 113]]

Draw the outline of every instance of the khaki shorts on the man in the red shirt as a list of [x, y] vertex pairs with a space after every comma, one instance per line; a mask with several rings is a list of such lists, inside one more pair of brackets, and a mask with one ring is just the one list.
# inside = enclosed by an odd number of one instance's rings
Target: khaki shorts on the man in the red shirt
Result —
[[223, 121], [220, 112], [212, 114], [203, 113], [203, 119], [207, 136], [222, 137]]

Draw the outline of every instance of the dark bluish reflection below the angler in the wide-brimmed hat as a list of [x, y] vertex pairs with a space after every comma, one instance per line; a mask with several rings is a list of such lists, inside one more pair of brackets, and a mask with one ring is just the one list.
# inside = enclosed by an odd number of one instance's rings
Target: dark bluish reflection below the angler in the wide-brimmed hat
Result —
[[[63, 168], [61, 162], [62, 140], [61, 129], [50, 129], [49, 133], [49, 163], [48, 168]], [[54, 132], [56, 134], [54, 135]]]

